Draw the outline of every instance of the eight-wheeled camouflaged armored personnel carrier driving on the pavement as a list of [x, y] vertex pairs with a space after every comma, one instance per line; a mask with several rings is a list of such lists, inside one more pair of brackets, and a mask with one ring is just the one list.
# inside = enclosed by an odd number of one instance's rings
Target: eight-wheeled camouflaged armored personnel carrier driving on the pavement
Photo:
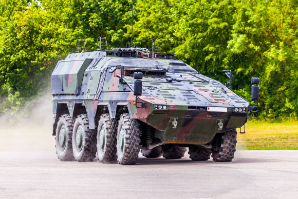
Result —
[[[58, 61], [52, 74], [56, 153], [62, 161], [118, 161], [147, 158], [231, 161], [236, 128], [256, 112], [259, 79], [252, 78], [256, 106], [210, 79], [174, 54], [150, 48], [79, 47]], [[82, 41], [78, 41], [79, 43]], [[154, 45], [153, 45], [154, 44]], [[103, 49], [102, 46], [106, 46]], [[156, 51], [156, 52], [155, 52]]]

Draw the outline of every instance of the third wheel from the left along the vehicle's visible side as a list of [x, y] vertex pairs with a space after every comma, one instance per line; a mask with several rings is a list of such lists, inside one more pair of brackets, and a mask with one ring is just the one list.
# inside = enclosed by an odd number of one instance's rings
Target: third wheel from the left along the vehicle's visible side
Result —
[[111, 119], [109, 114], [101, 115], [97, 128], [97, 155], [100, 162], [117, 159], [117, 127], [117, 119]]

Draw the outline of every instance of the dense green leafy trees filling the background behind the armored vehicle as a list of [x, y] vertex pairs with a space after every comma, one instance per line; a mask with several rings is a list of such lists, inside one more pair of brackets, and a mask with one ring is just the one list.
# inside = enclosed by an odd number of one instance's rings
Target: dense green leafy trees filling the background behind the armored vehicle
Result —
[[[261, 118], [298, 117], [298, 1], [134, 0], [133, 38], [175, 53], [197, 71], [250, 98], [260, 77]], [[131, 0], [0, 0], [0, 113], [17, 109], [49, 85], [57, 60], [76, 39], [88, 50], [131, 37]]]

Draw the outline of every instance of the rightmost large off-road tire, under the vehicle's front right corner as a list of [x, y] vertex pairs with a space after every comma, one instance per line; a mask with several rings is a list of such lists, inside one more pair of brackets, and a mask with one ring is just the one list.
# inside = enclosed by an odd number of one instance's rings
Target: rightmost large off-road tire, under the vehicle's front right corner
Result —
[[236, 129], [224, 132], [215, 143], [212, 149], [212, 158], [214, 161], [232, 161], [236, 151], [237, 131]]

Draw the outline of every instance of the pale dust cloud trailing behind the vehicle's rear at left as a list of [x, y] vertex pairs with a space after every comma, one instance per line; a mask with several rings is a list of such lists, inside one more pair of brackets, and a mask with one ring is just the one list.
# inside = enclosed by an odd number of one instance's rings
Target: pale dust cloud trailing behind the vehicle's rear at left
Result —
[[0, 117], [0, 153], [50, 150], [55, 153], [51, 100], [50, 92], [40, 93], [19, 110]]

